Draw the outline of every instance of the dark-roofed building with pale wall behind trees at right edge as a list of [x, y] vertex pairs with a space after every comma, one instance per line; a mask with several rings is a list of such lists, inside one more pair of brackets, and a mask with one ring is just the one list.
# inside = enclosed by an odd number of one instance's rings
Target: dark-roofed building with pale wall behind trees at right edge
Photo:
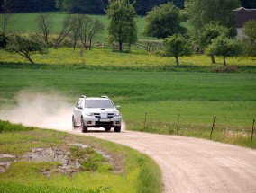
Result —
[[242, 38], [243, 24], [249, 20], [256, 20], [256, 9], [245, 9], [243, 7], [233, 10], [236, 22], [237, 37]]

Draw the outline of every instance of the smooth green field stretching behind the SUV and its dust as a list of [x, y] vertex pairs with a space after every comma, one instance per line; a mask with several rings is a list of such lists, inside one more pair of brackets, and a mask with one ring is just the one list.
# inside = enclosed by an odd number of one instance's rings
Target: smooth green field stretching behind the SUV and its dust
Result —
[[[72, 104], [80, 94], [108, 95], [122, 106], [127, 128], [133, 130], [176, 134], [179, 114], [180, 129], [202, 127], [207, 134], [202, 130], [199, 135], [186, 134], [186, 129], [181, 129], [178, 135], [209, 138], [216, 116], [217, 127], [222, 131], [239, 129], [248, 136], [256, 114], [255, 74], [69, 70], [59, 66], [58, 69], [1, 68], [0, 77], [2, 107], [14, 104], [20, 92], [57, 92], [67, 96]], [[224, 141], [220, 137], [215, 140]]]

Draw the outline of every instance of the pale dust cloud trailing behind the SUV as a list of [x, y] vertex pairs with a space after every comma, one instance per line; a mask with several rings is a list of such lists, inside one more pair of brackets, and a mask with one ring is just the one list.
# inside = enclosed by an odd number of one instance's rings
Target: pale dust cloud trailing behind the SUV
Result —
[[21, 92], [17, 105], [5, 106], [0, 110], [0, 119], [24, 126], [70, 130], [73, 105], [57, 93]]

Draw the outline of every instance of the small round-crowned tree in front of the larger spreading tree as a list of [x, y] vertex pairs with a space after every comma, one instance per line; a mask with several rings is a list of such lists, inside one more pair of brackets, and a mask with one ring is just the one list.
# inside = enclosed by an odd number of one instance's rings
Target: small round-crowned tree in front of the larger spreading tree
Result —
[[178, 57], [187, 56], [192, 53], [187, 39], [181, 34], [175, 34], [164, 39], [163, 46], [163, 56], [175, 57], [177, 66], [179, 66]]

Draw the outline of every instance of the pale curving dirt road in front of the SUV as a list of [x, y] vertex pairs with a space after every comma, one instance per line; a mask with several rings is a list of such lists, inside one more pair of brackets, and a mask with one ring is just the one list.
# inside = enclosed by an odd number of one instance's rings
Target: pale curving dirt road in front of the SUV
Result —
[[256, 151], [208, 140], [131, 131], [70, 133], [109, 140], [150, 155], [162, 171], [164, 192], [256, 192]]

